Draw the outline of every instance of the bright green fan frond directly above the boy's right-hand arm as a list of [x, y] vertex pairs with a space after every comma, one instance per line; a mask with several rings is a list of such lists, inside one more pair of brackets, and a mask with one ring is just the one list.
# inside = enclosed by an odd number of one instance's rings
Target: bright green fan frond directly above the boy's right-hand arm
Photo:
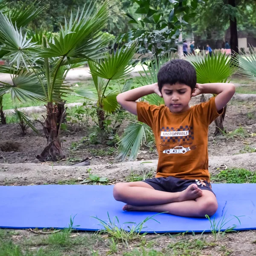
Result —
[[198, 60], [191, 62], [195, 67], [199, 84], [226, 82], [237, 70], [236, 61], [232, 61], [229, 56], [221, 52]]

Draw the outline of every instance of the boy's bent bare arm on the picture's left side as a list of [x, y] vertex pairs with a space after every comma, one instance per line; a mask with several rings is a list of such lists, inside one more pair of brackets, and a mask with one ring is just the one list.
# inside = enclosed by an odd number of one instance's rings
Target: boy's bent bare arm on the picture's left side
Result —
[[116, 96], [116, 100], [124, 109], [137, 116], [136, 100], [151, 93], [157, 93], [159, 96], [162, 96], [158, 89], [157, 83], [145, 85], [124, 93], [120, 93]]

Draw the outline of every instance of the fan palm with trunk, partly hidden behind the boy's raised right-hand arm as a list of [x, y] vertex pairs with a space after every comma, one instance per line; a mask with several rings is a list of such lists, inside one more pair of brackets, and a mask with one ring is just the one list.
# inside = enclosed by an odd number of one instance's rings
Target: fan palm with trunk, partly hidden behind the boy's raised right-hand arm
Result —
[[[237, 70], [237, 58], [232, 60], [229, 56], [221, 52], [218, 52], [212, 57], [209, 55], [206, 55], [203, 58], [191, 56], [187, 57], [186, 60], [194, 65], [197, 82], [199, 84], [225, 83]], [[215, 119], [215, 135], [221, 135], [221, 131], [224, 131], [223, 121], [226, 110], [227, 105], [224, 107], [224, 112], [221, 116], [218, 116], [218, 118]]]

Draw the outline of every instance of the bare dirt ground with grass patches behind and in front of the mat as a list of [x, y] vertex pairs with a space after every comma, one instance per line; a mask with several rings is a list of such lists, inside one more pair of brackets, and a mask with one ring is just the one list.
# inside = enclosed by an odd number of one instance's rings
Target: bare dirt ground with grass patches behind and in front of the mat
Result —
[[[198, 99], [192, 102], [198, 103]], [[216, 174], [224, 168], [245, 168], [256, 170], [256, 102], [233, 100], [227, 107], [224, 126], [227, 132], [244, 128], [243, 133], [227, 134], [214, 137], [215, 124], [209, 127], [209, 172]], [[37, 126], [41, 129], [40, 126]], [[26, 136], [20, 135], [17, 124], [1, 125], [0, 140], [12, 141], [17, 151], [0, 151], [0, 185], [41, 185], [41, 184], [79, 184], [90, 173], [107, 177], [108, 184], [124, 182], [131, 172], [143, 175], [151, 172], [154, 175], [157, 166], [155, 148], [143, 145], [135, 162], [114, 162], [116, 149], [106, 145], [79, 144], [73, 148], [72, 142], [79, 142], [88, 135], [84, 127], [73, 125], [70, 132], [64, 134], [63, 143], [65, 160], [57, 163], [40, 163], [35, 156], [40, 154], [46, 145], [46, 139], [29, 131]], [[42, 131], [42, 130], [41, 130]], [[241, 154], [243, 153], [243, 154]], [[90, 159], [90, 166], [72, 167], [79, 160]], [[147, 163], [143, 163], [143, 162]], [[148, 163], [149, 162], [149, 163]], [[0, 230], [2, 231], [2, 230]], [[22, 248], [36, 251], [38, 248], [57, 250], [47, 244], [49, 234], [37, 234], [29, 230], [4, 230], [6, 241], [13, 241]], [[0, 233], [1, 239], [1, 233]], [[8, 240], [9, 239], [9, 240]], [[256, 231], [228, 233], [218, 241], [212, 234], [200, 235], [146, 235], [142, 240], [129, 242], [128, 245], [116, 242], [111, 244], [108, 236], [90, 232], [71, 233], [69, 246], [59, 245], [58, 255], [126, 255], [126, 256], [251, 256], [256, 255]], [[48, 241], [48, 240], [47, 240]], [[199, 241], [199, 242], [198, 242]], [[136, 252], [138, 250], [138, 252]], [[143, 252], [148, 251], [148, 253]], [[154, 250], [154, 251], [153, 251]], [[151, 252], [149, 252], [151, 251]], [[1, 255], [1, 253], [0, 253]], [[57, 255], [57, 254], [46, 254]]]

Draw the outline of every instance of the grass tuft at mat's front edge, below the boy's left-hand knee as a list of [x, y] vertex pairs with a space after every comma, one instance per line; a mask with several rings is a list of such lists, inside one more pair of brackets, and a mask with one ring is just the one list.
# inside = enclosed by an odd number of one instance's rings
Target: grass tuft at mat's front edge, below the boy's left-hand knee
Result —
[[[94, 217], [94, 216], [92, 216], [92, 218], [96, 218], [99, 221], [100, 225], [102, 225], [102, 227], [104, 228], [102, 230], [99, 230], [99, 234], [106, 234], [108, 235], [108, 238], [110, 239], [113, 238], [113, 239], [116, 239], [117, 241], [122, 241], [123, 244], [126, 244], [128, 246], [129, 241], [142, 239], [147, 234], [147, 232], [140, 234], [142, 230], [146, 228], [144, 227], [144, 224], [147, 221], [154, 220], [157, 223], [160, 223], [159, 221], [154, 219], [154, 217], [161, 213], [163, 212], [157, 213], [151, 217], [147, 217], [145, 218], [145, 220], [141, 221], [138, 224], [136, 222], [124, 222], [122, 225], [120, 225], [119, 219], [117, 218], [117, 216], [115, 216], [113, 218], [113, 221], [111, 221], [109, 213], [108, 213], [108, 221], [103, 221], [98, 217]], [[115, 222], [115, 220], [117, 221], [117, 223]], [[125, 230], [124, 228], [125, 224], [133, 224], [133, 225], [127, 226], [128, 230]]]

